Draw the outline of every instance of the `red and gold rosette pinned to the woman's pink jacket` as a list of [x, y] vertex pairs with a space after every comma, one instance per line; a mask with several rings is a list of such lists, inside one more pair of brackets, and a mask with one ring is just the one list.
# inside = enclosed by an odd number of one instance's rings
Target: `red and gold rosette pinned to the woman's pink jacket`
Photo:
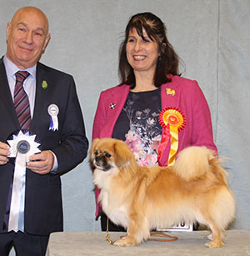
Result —
[[170, 138], [170, 152], [168, 156], [168, 166], [170, 166], [175, 161], [178, 151], [178, 133], [185, 128], [186, 118], [178, 108], [164, 108], [159, 114], [159, 123], [163, 128], [163, 138], [158, 148], [158, 163], [163, 165], [161, 157]]

